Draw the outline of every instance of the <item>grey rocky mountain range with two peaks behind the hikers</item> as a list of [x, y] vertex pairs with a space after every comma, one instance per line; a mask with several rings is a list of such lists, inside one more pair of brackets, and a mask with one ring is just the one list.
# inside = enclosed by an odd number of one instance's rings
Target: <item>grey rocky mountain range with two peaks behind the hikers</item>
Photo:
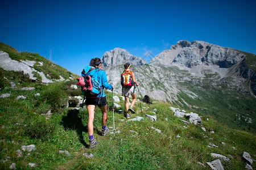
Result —
[[221, 121], [230, 114], [229, 121], [239, 126], [247, 123], [241, 123], [237, 115], [248, 114], [256, 120], [255, 61], [254, 54], [186, 40], [156, 55], [149, 64], [120, 48], [102, 57], [103, 69], [115, 91], [122, 91], [120, 75], [129, 62], [139, 83], [139, 96], [148, 95], [196, 111], [205, 107], [207, 114]]

